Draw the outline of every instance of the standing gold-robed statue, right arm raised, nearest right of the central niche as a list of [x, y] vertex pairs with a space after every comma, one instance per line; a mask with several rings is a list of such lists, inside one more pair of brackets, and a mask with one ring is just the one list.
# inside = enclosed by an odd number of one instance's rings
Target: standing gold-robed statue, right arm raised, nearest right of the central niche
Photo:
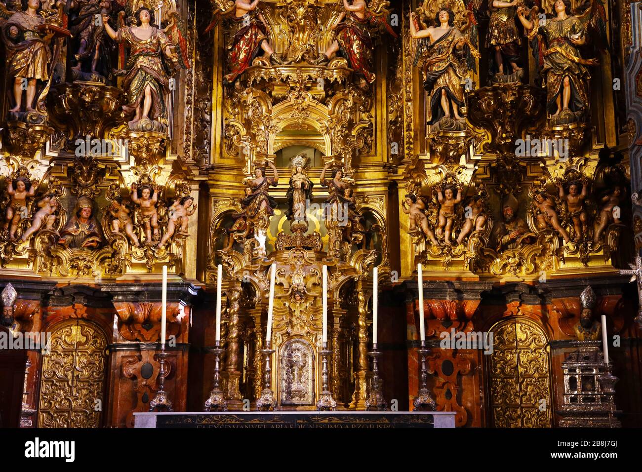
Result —
[[[415, 66], [420, 65], [424, 89], [429, 95], [428, 125], [438, 128], [459, 128], [464, 125], [460, 108], [464, 103], [464, 87], [472, 87], [470, 71], [479, 53], [471, 40], [455, 26], [455, 13], [440, 8], [432, 25], [419, 29], [417, 13], [410, 13], [410, 35], [417, 40]], [[425, 26], [425, 24], [424, 24]], [[440, 123], [441, 120], [444, 120]], [[455, 124], [451, 120], [455, 120]], [[431, 128], [435, 130], [436, 128]]]

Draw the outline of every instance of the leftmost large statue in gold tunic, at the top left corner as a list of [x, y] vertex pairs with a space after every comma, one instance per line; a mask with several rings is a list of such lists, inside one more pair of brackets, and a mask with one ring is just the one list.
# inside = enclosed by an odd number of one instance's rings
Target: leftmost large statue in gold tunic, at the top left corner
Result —
[[[58, 8], [62, 8], [63, 4], [62, 0], [56, 2]], [[51, 13], [51, 10], [48, 10], [48, 13]], [[47, 22], [40, 0], [26, 1], [26, 8], [19, 12], [11, 12], [4, 4], [0, 4], [0, 26], [6, 49], [6, 73], [13, 82], [13, 107], [9, 112], [19, 114], [22, 112], [23, 105], [27, 113], [35, 112], [36, 108], [44, 102], [49, 91], [51, 70], [62, 46], [58, 42], [56, 45], [58, 47], [52, 55], [49, 49], [51, 39], [56, 34], [64, 36], [69, 31], [55, 28], [53, 23]], [[52, 66], [48, 67], [52, 59]], [[39, 81], [46, 84], [40, 89], [39, 96], [35, 100]], [[22, 98], [23, 92], [26, 94], [25, 100]], [[37, 111], [39, 114], [45, 114], [44, 109]]]

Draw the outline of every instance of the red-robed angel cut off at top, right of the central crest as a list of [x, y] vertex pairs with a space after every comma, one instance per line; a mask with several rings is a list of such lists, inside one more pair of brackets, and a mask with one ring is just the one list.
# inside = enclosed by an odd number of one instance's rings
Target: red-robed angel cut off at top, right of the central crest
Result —
[[356, 73], [363, 75], [368, 83], [374, 82], [376, 79], [372, 72], [374, 44], [370, 30], [373, 28], [379, 30], [383, 26], [395, 38], [397, 33], [392, 30], [387, 20], [388, 10], [385, 10], [385, 7], [390, 2], [372, 3], [375, 6], [370, 10], [365, 0], [352, 0], [351, 3], [343, 0], [343, 11], [330, 26], [331, 30], [336, 31], [336, 39], [315, 61], [316, 64], [325, 64], [340, 51]]

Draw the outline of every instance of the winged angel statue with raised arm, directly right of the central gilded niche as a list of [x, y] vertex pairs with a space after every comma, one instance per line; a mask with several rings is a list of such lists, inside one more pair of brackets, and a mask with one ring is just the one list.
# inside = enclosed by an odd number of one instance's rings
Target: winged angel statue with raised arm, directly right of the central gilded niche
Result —
[[[473, 2], [474, 0], [470, 0]], [[461, 0], [425, 0], [410, 13], [410, 35], [415, 40], [415, 66], [421, 67], [428, 92], [428, 125], [437, 129], [464, 127], [464, 87], [472, 87], [477, 28], [471, 10]]]

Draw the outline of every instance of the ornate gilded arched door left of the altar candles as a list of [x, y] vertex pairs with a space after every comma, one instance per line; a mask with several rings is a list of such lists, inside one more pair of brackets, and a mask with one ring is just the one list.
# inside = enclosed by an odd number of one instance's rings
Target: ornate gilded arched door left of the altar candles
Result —
[[85, 320], [55, 327], [40, 378], [40, 428], [97, 428], [107, 341]]

